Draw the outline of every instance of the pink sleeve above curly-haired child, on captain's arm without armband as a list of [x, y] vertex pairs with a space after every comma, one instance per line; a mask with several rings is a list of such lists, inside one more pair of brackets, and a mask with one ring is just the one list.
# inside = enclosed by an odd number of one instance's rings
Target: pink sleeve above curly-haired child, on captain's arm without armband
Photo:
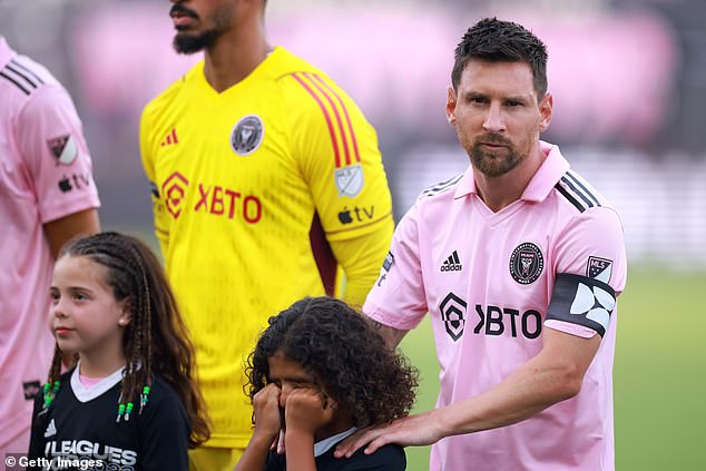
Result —
[[404, 331], [414, 328], [422, 321], [426, 302], [419, 253], [415, 206], [394, 232], [380, 277], [363, 305], [365, 315]]

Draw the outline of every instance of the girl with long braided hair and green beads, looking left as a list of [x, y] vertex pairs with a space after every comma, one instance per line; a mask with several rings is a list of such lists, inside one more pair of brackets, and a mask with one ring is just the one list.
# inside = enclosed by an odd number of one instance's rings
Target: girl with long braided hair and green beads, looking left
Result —
[[[69, 243], [53, 271], [50, 325], [57, 345], [29, 457], [59, 469], [92, 460], [104, 470], [187, 470], [187, 448], [209, 430], [193, 346], [151, 251], [117, 233]], [[78, 355], [63, 375], [61, 352]]]

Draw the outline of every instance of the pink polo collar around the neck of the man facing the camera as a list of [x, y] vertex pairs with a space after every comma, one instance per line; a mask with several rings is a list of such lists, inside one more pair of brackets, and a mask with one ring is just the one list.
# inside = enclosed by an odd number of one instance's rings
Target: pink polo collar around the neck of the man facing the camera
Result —
[[[539, 167], [532, 179], [524, 188], [520, 199], [526, 202], [542, 202], [549, 194], [555, 185], [559, 181], [561, 176], [569, 169], [569, 163], [559, 151], [559, 146], [553, 144], [539, 141], [539, 148], [547, 158]], [[473, 177], [473, 167], [469, 165], [468, 169], [463, 174], [463, 177], [457, 186], [453, 195], [454, 199], [462, 198], [470, 194], [478, 194], [475, 188], [475, 178]]]

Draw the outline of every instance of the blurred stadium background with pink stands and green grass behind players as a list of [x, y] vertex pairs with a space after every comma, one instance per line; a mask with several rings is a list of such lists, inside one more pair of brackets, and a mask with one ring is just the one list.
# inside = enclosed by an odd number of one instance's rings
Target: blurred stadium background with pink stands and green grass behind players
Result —
[[[0, 0], [0, 32], [75, 98], [104, 226], [146, 237], [140, 111], [198, 59], [173, 52], [168, 9]], [[268, 33], [327, 71], [376, 127], [399, 218], [420, 189], [468, 163], [445, 121], [445, 88], [455, 43], [484, 16], [547, 42], [555, 118], [545, 138], [622, 216], [630, 277], [615, 370], [617, 469], [706, 469], [705, 0], [269, 0]], [[418, 408], [431, 408], [429, 324], [403, 347], [422, 370]], [[426, 469], [428, 452], [409, 450], [409, 469]]]

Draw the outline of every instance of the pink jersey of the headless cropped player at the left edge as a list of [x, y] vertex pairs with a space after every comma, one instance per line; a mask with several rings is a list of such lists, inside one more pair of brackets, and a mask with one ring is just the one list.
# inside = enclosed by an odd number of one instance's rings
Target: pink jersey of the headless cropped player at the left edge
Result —
[[0, 37], [2, 451], [27, 451], [32, 395], [53, 354], [47, 318], [53, 258], [42, 225], [98, 206], [71, 98], [47, 69]]

